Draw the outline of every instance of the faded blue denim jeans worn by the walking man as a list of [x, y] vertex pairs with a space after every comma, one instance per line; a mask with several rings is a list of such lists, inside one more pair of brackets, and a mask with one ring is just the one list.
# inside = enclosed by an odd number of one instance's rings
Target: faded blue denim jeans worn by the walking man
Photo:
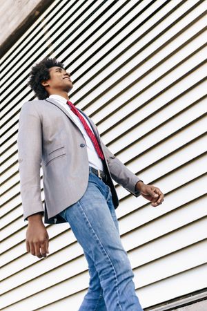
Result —
[[70, 224], [88, 261], [89, 288], [79, 311], [143, 311], [119, 236], [110, 187], [90, 167], [85, 194], [60, 215]]

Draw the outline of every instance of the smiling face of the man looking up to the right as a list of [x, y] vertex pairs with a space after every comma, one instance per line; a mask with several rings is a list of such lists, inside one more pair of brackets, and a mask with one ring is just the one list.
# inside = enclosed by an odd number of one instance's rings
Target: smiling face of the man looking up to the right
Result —
[[55, 66], [49, 68], [50, 79], [47, 80], [48, 91], [66, 91], [67, 93], [72, 89], [72, 81], [70, 73], [61, 67]]

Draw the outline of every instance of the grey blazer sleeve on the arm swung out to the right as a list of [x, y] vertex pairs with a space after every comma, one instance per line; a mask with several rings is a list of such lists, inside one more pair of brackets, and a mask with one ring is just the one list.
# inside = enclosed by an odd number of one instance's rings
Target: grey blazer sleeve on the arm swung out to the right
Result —
[[[141, 179], [132, 173], [132, 171], [130, 171], [126, 165], [124, 165], [117, 157], [115, 157], [115, 155], [112, 154], [112, 152], [106, 147], [106, 145], [103, 144], [102, 140], [101, 147], [105, 153], [112, 179], [134, 196], [140, 196], [140, 191], [135, 190], [135, 185]], [[143, 180], [141, 181], [143, 182]]]

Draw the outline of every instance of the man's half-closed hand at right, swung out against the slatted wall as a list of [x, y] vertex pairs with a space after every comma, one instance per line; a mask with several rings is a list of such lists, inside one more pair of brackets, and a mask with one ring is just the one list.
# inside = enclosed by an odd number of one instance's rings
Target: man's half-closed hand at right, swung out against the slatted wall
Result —
[[164, 201], [164, 194], [158, 187], [146, 185], [144, 182], [137, 182], [135, 189], [140, 191], [141, 196], [152, 202], [152, 206], [156, 207]]

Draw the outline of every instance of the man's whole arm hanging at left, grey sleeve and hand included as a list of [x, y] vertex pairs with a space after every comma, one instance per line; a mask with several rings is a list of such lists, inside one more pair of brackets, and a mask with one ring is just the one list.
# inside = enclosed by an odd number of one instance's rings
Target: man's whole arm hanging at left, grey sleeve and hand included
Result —
[[28, 220], [26, 249], [38, 258], [47, 258], [49, 236], [41, 215], [41, 120], [31, 102], [21, 107], [17, 144], [23, 219]]

